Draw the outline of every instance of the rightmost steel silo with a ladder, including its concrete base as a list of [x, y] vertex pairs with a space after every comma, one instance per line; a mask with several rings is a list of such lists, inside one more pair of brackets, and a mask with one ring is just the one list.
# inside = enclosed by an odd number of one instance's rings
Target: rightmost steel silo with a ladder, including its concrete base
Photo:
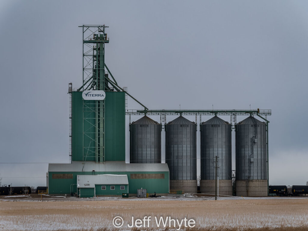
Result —
[[236, 194], [267, 196], [266, 125], [249, 116], [235, 125]]

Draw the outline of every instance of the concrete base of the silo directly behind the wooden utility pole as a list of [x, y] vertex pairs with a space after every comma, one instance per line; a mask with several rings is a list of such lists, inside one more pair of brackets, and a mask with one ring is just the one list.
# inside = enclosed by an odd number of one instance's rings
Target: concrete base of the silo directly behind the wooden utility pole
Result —
[[[200, 191], [206, 194], [215, 194], [215, 180], [200, 180]], [[232, 196], [232, 180], [218, 180], [219, 195]]]

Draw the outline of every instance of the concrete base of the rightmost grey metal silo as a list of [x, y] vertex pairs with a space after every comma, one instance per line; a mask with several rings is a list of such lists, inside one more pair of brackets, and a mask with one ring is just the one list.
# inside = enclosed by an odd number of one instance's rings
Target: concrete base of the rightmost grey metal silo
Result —
[[239, 197], [267, 196], [267, 180], [236, 180], [235, 187]]

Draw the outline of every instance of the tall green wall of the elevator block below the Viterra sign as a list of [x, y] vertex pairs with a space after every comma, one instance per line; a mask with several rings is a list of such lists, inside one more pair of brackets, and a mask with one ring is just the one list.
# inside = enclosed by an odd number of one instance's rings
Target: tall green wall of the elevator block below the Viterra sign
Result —
[[[95, 108], [95, 101], [88, 100]], [[95, 161], [95, 144], [91, 138], [95, 133], [87, 134], [83, 140], [83, 126], [85, 131], [95, 132], [95, 113], [91, 108], [85, 108], [87, 121], [83, 123], [83, 99], [81, 91], [72, 92], [72, 161]], [[90, 143], [91, 142], [91, 143]], [[83, 155], [83, 146], [90, 147], [90, 153]], [[91, 148], [92, 147], [92, 148]], [[86, 150], [86, 149], [85, 149]], [[85, 157], [87, 156], [87, 157]], [[105, 98], [105, 161], [125, 161], [125, 93], [106, 91]]]

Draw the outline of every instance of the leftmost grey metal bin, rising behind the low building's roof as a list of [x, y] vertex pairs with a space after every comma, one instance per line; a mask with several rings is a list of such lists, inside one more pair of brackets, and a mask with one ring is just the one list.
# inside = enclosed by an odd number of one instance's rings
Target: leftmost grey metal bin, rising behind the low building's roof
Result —
[[161, 124], [145, 115], [129, 131], [130, 163], [161, 163]]

